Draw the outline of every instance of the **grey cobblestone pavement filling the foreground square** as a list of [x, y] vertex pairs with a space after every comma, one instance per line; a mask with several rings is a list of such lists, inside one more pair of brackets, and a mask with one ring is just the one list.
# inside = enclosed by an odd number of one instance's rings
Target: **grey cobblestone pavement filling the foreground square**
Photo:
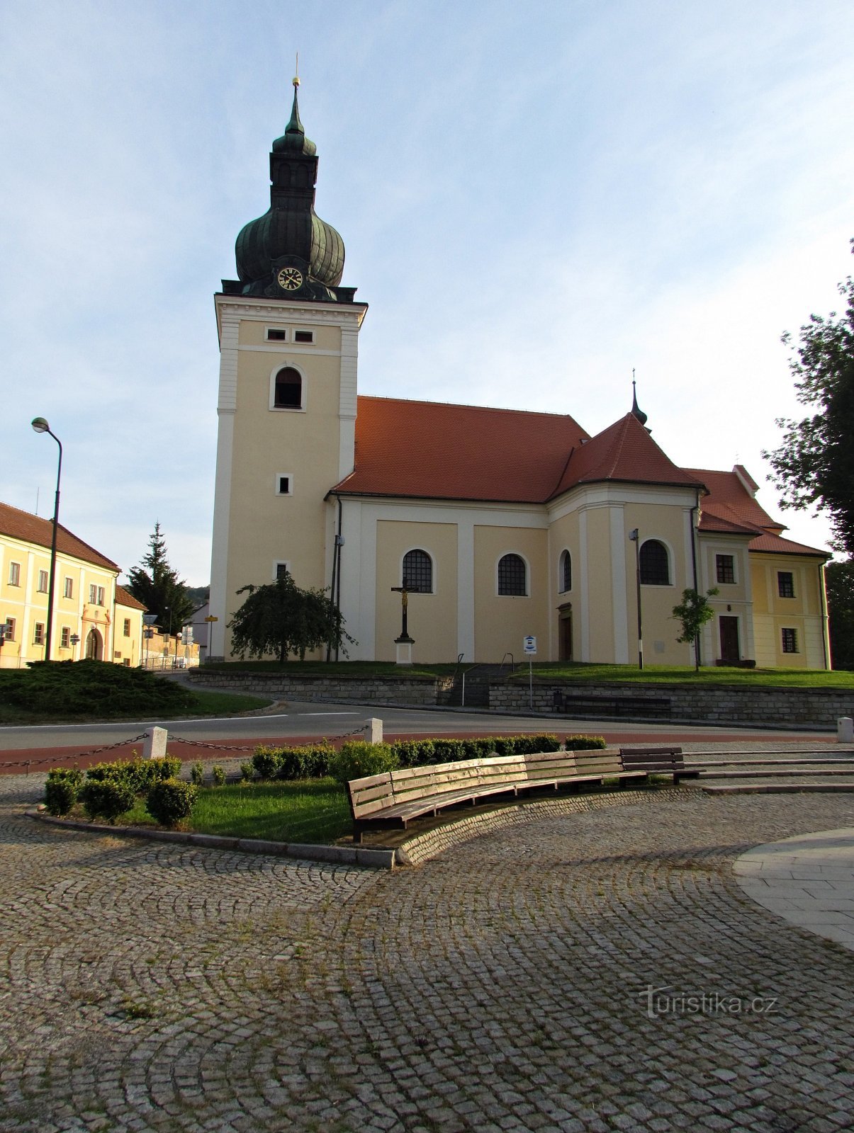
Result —
[[732, 871], [852, 795], [627, 792], [386, 874], [46, 827], [39, 790], [0, 783], [2, 1131], [854, 1124], [854, 955]]

